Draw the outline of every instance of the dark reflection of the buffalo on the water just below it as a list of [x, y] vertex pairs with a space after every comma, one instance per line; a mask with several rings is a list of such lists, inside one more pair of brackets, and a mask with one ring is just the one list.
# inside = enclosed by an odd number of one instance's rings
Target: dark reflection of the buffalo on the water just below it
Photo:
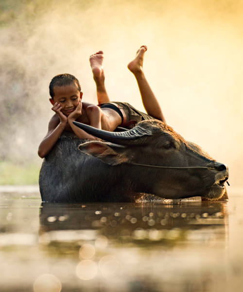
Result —
[[[107, 245], [104, 244], [107, 240], [118, 246], [125, 243], [166, 246], [189, 237], [205, 242], [209, 238], [207, 234], [220, 240], [226, 238], [226, 214], [225, 202], [42, 203], [39, 234], [42, 243], [45, 243], [43, 238], [48, 238], [48, 244], [80, 244], [97, 239], [101, 242], [97, 246]], [[102, 241], [101, 236], [107, 239]]]

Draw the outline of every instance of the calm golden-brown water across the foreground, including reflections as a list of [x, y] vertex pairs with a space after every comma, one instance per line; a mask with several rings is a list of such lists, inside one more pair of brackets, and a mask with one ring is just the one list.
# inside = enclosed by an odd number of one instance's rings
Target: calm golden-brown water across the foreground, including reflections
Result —
[[0, 188], [0, 291], [242, 291], [243, 197], [42, 204]]

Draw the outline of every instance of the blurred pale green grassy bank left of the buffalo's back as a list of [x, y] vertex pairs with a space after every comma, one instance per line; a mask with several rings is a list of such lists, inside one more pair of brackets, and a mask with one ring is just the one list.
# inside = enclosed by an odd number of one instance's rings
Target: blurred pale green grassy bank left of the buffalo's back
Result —
[[40, 165], [35, 163], [13, 164], [0, 162], [0, 185], [37, 184]]

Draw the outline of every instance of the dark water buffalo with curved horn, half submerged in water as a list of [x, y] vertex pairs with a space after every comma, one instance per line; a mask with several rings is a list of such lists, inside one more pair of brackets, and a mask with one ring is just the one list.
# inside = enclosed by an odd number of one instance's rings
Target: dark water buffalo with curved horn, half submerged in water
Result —
[[62, 135], [40, 170], [42, 201], [124, 202], [140, 193], [216, 200], [225, 193], [227, 166], [163, 122], [142, 121], [124, 132], [74, 123], [108, 142]]

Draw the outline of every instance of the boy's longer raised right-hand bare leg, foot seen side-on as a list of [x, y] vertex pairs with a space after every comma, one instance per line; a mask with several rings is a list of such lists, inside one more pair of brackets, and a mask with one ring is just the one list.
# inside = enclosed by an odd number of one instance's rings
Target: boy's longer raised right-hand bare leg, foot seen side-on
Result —
[[156, 99], [156, 96], [152, 89], [150, 88], [147, 79], [143, 73], [143, 57], [144, 53], [147, 51], [146, 46], [141, 46], [137, 52], [137, 55], [133, 61], [131, 61], [127, 67], [134, 74], [137, 79], [139, 91], [142, 98], [142, 103], [147, 111], [147, 113], [158, 120], [165, 123], [165, 118], [163, 116], [160, 105]]

